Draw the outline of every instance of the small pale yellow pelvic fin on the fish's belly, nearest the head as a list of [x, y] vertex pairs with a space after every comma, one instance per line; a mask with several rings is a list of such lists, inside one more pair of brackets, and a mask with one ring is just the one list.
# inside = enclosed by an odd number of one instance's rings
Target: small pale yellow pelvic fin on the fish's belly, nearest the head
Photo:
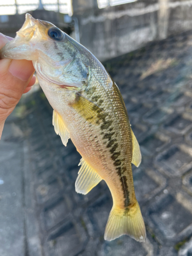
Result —
[[67, 146], [68, 139], [70, 138], [69, 132], [62, 120], [62, 117], [56, 111], [53, 111], [53, 125], [56, 134], [61, 137], [62, 143]]

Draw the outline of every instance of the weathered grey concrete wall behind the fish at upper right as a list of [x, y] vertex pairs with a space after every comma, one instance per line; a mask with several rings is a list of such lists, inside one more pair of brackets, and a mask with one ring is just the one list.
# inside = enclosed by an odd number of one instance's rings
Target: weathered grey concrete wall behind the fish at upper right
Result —
[[96, 0], [73, 0], [73, 8], [80, 43], [100, 60], [192, 28], [192, 0], [139, 0], [104, 9]]

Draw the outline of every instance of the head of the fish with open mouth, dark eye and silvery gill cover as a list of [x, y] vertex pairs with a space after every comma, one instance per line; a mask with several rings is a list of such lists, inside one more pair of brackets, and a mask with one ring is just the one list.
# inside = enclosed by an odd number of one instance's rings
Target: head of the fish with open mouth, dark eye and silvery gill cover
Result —
[[81, 89], [88, 79], [81, 48], [84, 47], [53, 24], [27, 13], [16, 37], [0, 51], [0, 58], [32, 60], [42, 79], [63, 88]]

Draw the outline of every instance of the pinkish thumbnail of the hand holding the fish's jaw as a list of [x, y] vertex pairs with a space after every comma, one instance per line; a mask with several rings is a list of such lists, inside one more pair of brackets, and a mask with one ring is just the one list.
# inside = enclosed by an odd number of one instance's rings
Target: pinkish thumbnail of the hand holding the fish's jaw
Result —
[[26, 59], [13, 59], [9, 66], [9, 72], [18, 79], [27, 82], [34, 72], [33, 63]]

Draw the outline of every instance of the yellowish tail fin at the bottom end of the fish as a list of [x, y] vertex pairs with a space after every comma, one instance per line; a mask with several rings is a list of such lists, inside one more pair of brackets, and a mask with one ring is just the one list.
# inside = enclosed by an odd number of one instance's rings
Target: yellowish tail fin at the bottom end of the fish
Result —
[[145, 242], [145, 224], [138, 202], [129, 209], [113, 206], [106, 224], [104, 239], [111, 241], [122, 234], [127, 234], [136, 241]]

